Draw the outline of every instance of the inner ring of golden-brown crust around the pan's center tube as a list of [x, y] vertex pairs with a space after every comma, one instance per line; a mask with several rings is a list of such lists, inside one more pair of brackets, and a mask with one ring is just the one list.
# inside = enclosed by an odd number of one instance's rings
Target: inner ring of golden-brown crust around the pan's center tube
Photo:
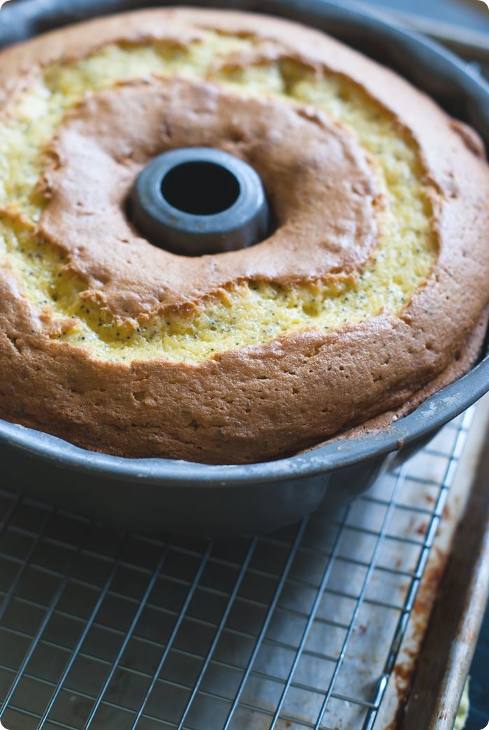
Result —
[[[266, 241], [189, 258], [137, 235], [125, 211], [137, 174], [156, 155], [192, 146], [219, 147], [257, 170], [276, 218]], [[86, 299], [122, 320], [240, 280], [289, 285], [355, 272], [376, 239], [382, 201], [363, 150], [324, 115], [283, 101], [240, 99], [201, 80], [138, 80], [80, 104], [52, 152], [41, 234], [92, 285]]]

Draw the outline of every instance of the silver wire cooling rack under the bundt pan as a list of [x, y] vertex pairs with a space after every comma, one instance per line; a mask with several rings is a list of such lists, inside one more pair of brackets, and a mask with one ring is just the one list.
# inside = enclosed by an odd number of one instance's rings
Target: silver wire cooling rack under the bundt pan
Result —
[[2, 723], [372, 728], [470, 419], [349, 506], [232, 542], [117, 534], [1, 491]]

